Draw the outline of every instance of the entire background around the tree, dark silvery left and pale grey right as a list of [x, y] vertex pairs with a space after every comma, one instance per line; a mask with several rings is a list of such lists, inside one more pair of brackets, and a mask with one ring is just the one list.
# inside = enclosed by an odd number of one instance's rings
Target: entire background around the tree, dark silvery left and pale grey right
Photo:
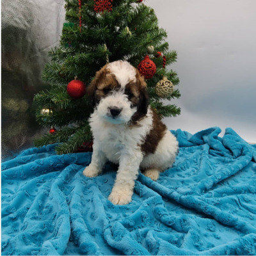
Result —
[[[115, 0], [114, 0], [115, 1]], [[232, 127], [256, 143], [256, 1], [144, 0], [178, 52], [182, 112], [169, 129]], [[31, 147], [38, 133], [33, 95], [47, 52], [58, 44], [64, 1], [2, 0], [2, 158]]]

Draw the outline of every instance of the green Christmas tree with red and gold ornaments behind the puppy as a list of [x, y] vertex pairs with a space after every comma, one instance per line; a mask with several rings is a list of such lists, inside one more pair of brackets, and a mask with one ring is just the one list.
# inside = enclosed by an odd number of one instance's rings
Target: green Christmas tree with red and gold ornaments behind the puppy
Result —
[[34, 98], [36, 120], [51, 127], [36, 147], [58, 142], [56, 152], [65, 154], [92, 141], [88, 118], [93, 108], [86, 87], [95, 72], [116, 60], [140, 67], [159, 116], [180, 114], [180, 108], [162, 101], [180, 97], [179, 78], [166, 69], [177, 52], [168, 50], [166, 31], [152, 8], [141, 0], [65, 0], [65, 10], [60, 46], [49, 52], [51, 62], [42, 75], [49, 89]]

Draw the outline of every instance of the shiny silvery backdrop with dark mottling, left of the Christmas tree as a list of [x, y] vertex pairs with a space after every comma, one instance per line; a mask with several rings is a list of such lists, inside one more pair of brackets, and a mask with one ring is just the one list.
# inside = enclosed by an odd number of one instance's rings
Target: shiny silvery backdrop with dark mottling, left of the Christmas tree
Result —
[[60, 40], [65, 10], [64, 0], [2, 0], [1, 5], [1, 147], [6, 159], [33, 147], [35, 136], [45, 132], [36, 123], [33, 97], [47, 86], [41, 75], [47, 52]]

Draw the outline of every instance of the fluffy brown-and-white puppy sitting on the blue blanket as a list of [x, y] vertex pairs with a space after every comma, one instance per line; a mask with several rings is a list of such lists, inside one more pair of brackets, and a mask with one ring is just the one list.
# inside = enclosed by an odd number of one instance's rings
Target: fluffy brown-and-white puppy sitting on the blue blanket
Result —
[[95, 109], [92, 163], [83, 174], [95, 177], [106, 161], [119, 164], [109, 195], [113, 204], [131, 202], [139, 169], [152, 180], [175, 161], [178, 142], [153, 109], [148, 107], [147, 84], [127, 61], [102, 67], [88, 88]]

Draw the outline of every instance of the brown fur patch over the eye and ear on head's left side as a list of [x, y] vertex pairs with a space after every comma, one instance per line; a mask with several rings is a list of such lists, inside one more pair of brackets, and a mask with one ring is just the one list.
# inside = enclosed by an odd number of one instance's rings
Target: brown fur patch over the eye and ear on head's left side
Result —
[[108, 70], [108, 64], [96, 72], [95, 78], [88, 87], [87, 93], [93, 99], [93, 105], [99, 103], [102, 97], [106, 97], [113, 88], [118, 88], [119, 84], [115, 76]]

